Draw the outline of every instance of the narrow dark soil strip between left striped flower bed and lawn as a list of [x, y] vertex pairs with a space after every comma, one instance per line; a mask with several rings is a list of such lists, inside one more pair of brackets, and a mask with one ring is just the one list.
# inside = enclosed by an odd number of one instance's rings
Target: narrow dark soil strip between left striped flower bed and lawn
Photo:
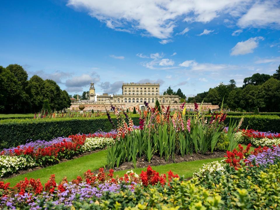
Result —
[[[107, 147], [106, 147], [106, 148], [107, 148]], [[106, 148], [104, 148], [104, 149], [106, 149]], [[34, 167], [34, 168], [29, 168], [29, 169], [26, 169], [26, 170], [20, 170], [20, 171], [17, 171], [17, 172], [15, 172], [15, 173], [13, 173], [13, 174], [10, 174], [10, 175], [9, 175], [9, 174], [6, 174], [5, 176], [2, 176], [2, 177], [0, 178], [0, 181], [3, 181], [3, 180], [6, 179], [6, 178], [13, 178], [13, 177], [16, 177], [16, 176], [21, 175], [21, 174], [26, 174], [26, 173], [29, 173], [29, 172], [31, 172], [31, 171], [40, 170], [40, 169], [46, 168], [46, 167], [48, 167], [48, 166], [56, 165], [56, 164], [58, 164], [58, 163], [67, 162], [67, 161], [69, 161], [69, 160], [74, 160], [74, 159], [77, 159], [77, 158], [79, 158], [79, 157], [83, 157], [83, 156], [85, 156], [85, 155], [90, 155], [90, 154], [92, 154], [92, 153], [97, 153], [97, 152], [99, 152], [99, 151], [101, 151], [101, 150], [104, 150], [104, 149], [97, 149], [97, 150], [94, 150], [94, 151], [91, 151], [91, 152], [85, 152], [85, 153], [82, 153], [82, 154], [80, 154], [80, 155], [73, 156], [71, 159], [62, 159], [62, 160], [60, 160], [59, 162], [56, 162], [56, 163], [54, 163], [54, 164], [48, 164], [48, 165], [45, 165], [45, 166], [38, 166], [38, 167]]]

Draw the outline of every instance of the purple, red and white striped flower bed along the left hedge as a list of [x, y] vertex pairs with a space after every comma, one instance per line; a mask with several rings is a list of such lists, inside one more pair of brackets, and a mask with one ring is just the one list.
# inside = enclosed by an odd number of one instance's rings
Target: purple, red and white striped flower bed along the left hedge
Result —
[[51, 141], [30, 141], [24, 145], [3, 149], [0, 155], [0, 177], [18, 170], [54, 164], [61, 159], [102, 149], [107, 144], [115, 143], [116, 135], [115, 131], [77, 134]]

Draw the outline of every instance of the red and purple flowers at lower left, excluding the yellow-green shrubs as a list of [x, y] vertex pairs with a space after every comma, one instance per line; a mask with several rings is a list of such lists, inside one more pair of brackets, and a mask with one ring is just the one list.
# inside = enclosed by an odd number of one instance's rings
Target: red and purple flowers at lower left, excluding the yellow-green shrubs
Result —
[[134, 191], [137, 184], [143, 187], [156, 185], [157, 183], [164, 185], [175, 177], [178, 177], [178, 175], [169, 171], [167, 180], [165, 174], [159, 175], [151, 167], [148, 167], [147, 171], [142, 171], [140, 175], [133, 171], [127, 171], [124, 176], [113, 178], [112, 169], [106, 174], [104, 169], [100, 168], [98, 174], [88, 170], [84, 173], [83, 178], [78, 176], [77, 179], [67, 181], [65, 177], [60, 183], [56, 183], [55, 174], [53, 174], [44, 187], [39, 179], [34, 180], [32, 178], [30, 180], [25, 178], [15, 187], [10, 187], [9, 183], [0, 182], [0, 208], [28, 207], [30, 209], [40, 209], [38, 204], [42, 198], [45, 199], [43, 203], [51, 201], [51, 206], [64, 205], [69, 207], [77, 200], [86, 201], [93, 197], [100, 198], [104, 192], [118, 192], [121, 188]]

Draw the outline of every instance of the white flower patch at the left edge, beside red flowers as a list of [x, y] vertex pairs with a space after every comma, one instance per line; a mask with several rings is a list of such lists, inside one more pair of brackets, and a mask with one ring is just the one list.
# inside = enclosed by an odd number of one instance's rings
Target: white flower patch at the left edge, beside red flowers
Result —
[[35, 162], [27, 161], [24, 157], [0, 155], [0, 177], [33, 166], [35, 166]]

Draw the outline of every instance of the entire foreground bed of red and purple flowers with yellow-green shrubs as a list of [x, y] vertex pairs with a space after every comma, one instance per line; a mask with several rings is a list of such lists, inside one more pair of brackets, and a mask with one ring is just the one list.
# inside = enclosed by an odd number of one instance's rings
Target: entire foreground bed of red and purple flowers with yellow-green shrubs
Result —
[[[128, 171], [121, 178], [113, 178], [113, 170], [105, 174], [103, 169], [99, 169], [97, 175], [88, 170], [84, 178], [77, 177], [71, 182], [64, 178], [56, 183], [52, 175], [44, 187], [34, 179], [20, 181], [14, 188], [0, 182], [0, 207], [70, 209], [71, 205], [71, 209], [277, 209], [279, 146], [256, 148], [252, 154], [248, 152], [249, 148], [250, 145], [245, 149], [239, 146], [238, 150], [227, 154], [228, 163], [212, 163], [213, 168], [204, 166], [203, 175], [194, 174], [189, 181], [171, 171], [167, 179], [148, 167], [139, 176]], [[256, 161], [258, 157], [268, 160], [272, 156], [272, 161]]]

